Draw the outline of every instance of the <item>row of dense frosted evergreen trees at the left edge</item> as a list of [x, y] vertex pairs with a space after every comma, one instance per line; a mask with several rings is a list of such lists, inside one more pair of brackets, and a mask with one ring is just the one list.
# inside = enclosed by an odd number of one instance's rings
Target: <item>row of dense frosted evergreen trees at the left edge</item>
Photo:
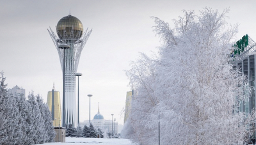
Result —
[[42, 144], [53, 142], [51, 112], [39, 95], [8, 94], [0, 73], [0, 144]]

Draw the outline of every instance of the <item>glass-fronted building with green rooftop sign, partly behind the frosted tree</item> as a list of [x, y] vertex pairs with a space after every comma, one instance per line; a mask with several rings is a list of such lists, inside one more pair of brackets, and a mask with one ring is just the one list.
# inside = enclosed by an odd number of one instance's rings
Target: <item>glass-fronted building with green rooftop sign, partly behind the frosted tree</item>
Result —
[[[238, 40], [234, 45], [234, 50], [232, 50], [232, 57], [236, 56], [239, 59], [232, 62], [234, 68], [239, 68], [241, 72], [246, 75], [248, 83], [251, 87], [255, 87], [255, 72], [256, 72], [256, 43], [247, 34], [243, 36], [241, 40]], [[250, 113], [255, 109], [255, 92], [253, 89], [248, 102], [241, 102], [239, 106], [239, 111]], [[246, 93], [246, 92], [244, 92]], [[255, 141], [255, 134], [249, 137], [251, 140]]]

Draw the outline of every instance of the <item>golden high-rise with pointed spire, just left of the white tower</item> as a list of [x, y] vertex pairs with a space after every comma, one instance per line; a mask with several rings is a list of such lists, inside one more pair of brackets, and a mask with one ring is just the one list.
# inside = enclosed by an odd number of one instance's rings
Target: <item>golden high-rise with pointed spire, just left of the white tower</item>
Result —
[[[53, 97], [53, 106], [52, 106], [52, 95]], [[47, 95], [47, 105], [52, 114], [53, 126], [61, 126], [61, 105], [60, 105], [60, 91], [55, 91], [54, 84], [52, 91], [48, 91]], [[52, 112], [52, 107], [54, 108]]]

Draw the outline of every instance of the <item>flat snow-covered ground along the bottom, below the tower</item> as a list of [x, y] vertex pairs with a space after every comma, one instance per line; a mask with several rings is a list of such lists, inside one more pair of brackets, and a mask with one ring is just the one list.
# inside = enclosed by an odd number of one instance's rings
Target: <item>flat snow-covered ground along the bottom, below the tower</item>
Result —
[[136, 145], [132, 144], [128, 139], [98, 139], [98, 138], [77, 138], [77, 137], [66, 137], [66, 142], [52, 142], [45, 143], [45, 145]]

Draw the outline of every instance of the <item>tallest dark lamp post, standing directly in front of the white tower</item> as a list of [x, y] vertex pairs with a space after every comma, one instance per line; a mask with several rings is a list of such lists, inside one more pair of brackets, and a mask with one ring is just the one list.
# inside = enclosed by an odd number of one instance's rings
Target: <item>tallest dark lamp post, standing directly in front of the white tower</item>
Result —
[[65, 49], [70, 49], [67, 44], [59, 45], [59, 49], [63, 49], [63, 107], [62, 107], [62, 126], [65, 127], [66, 116], [65, 116]]

